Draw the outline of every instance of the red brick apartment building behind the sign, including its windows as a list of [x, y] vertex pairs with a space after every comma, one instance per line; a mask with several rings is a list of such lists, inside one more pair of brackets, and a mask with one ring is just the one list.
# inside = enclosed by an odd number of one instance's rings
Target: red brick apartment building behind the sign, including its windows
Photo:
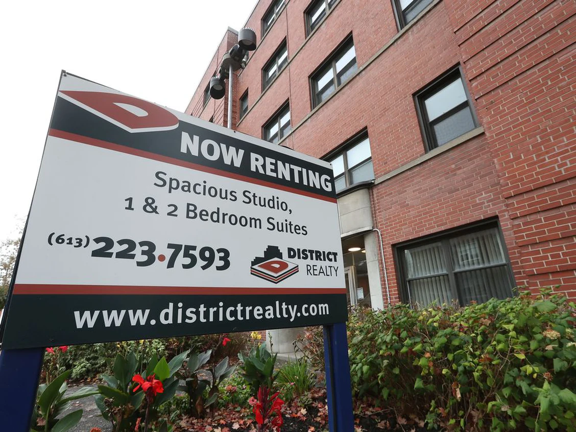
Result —
[[[576, 298], [575, 14], [574, 0], [257, 2], [232, 126], [332, 161], [351, 302]], [[236, 40], [187, 113], [226, 126], [228, 94], [207, 89]]]

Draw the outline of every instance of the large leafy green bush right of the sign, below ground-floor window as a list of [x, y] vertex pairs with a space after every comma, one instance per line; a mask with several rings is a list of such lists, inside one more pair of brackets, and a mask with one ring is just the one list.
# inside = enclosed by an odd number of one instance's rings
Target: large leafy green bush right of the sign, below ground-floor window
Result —
[[576, 430], [573, 303], [528, 293], [350, 317], [355, 396], [449, 430]]

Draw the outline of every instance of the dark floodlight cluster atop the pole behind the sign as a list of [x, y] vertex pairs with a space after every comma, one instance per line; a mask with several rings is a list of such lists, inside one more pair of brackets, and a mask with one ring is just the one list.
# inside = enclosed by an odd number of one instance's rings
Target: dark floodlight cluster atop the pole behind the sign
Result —
[[232, 71], [244, 69], [248, 62], [248, 51], [256, 50], [256, 33], [249, 28], [238, 32], [238, 43], [222, 56], [218, 74], [210, 78], [210, 96], [221, 99], [226, 93], [225, 80], [231, 79]]

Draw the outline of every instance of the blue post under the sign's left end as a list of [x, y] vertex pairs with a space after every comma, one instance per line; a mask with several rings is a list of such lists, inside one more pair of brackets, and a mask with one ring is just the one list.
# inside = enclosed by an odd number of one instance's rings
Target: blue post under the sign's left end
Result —
[[44, 348], [0, 351], [0, 429], [28, 432]]

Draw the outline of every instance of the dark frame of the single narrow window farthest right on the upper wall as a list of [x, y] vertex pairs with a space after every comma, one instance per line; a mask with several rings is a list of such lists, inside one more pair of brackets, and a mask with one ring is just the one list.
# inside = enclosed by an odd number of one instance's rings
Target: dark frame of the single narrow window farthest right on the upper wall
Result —
[[[466, 100], [456, 105], [456, 107], [450, 108], [449, 111], [446, 111], [444, 114], [438, 116], [438, 118], [435, 118], [432, 122], [430, 122], [425, 107], [425, 100], [433, 96], [434, 94], [438, 93], [440, 90], [444, 89], [445, 86], [452, 84], [452, 82], [456, 81], [456, 79], [454, 79], [456, 77], [459, 77], [460, 81], [462, 82], [464, 93], [466, 94]], [[457, 113], [458, 111], [463, 109], [465, 106], [468, 106], [470, 112], [472, 113], [472, 122], [474, 123], [473, 128], [480, 126], [478, 116], [476, 116], [476, 110], [474, 109], [474, 105], [472, 103], [472, 97], [470, 96], [470, 93], [468, 91], [467, 82], [464, 79], [464, 71], [461, 65], [452, 67], [444, 74], [434, 79], [434, 81], [427, 84], [423, 89], [418, 90], [418, 92], [414, 94], [414, 104], [416, 105], [416, 115], [418, 116], [418, 122], [420, 124], [420, 132], [422, 133], [422, 140], [424, 142], [426, 152], [434, 150], [435, 148], [439, 147], [436, 134], [434, 133], [432, 127], [433, 123], [439, 123], [442, 120], [449, 118], [450, 116], [454, 115], [454, 113]], [[471, 130], [473, 130], [473, 128]], [[462, 135], [459, 136], [461, 137]], [[453, 139], [457, 138], [458, 137]]]

